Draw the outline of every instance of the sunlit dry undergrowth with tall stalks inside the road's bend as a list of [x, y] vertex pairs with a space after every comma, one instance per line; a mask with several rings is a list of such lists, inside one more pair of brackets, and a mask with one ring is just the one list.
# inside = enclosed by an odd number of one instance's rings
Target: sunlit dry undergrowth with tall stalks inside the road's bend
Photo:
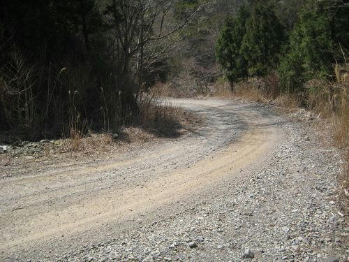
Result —
[[158, 91], [151, 89], [139, 92], [138, 113], [132, 124], [121, 124], [117, 131], [112, 131], [109, 128], [108, 111], [105, 110], [105, 130], [94, 133], [90, 129], [91, 125], [82, 121], [74, 107], [77, 95], [72, 94], [70, 99], [69, 122], [63, 133], [64, 152], [101, 152], [118, 143], [145, 143], [156, 137], [174, 138], [181, 136], [184, 130], [191, 129], [191, 122], [197, 120], [191, 113], [163, 101]]

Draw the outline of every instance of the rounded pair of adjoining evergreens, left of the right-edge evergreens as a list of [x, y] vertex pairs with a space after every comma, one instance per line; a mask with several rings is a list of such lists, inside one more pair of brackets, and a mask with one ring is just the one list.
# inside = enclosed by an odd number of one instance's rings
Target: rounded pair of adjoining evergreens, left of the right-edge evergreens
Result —
[[266, 75], [276, 67], [283, 26], [272, 6], [256, 2], [229, 17], [216, 45], [216, 58], [230, 82]]

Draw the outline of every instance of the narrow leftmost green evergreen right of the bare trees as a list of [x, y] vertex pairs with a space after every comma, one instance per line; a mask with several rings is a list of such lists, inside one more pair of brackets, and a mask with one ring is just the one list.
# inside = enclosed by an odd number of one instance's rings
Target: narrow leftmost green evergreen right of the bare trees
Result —
[[246, 77], [247, 63], [241, 46], [250, 16], [247, 6], [241, 6], [237, 15], [225, 20], [216, 45], [216, 59], [230, 82]]

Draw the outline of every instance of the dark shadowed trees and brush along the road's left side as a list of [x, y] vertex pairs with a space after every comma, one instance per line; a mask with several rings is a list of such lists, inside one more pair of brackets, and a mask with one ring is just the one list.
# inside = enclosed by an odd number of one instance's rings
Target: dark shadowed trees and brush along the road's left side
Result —
[[200, 5], [185, 8], [182, 17], [181, 1], [2, 1], [0, 143], [71, 138], [77, 150], [91, 133], [175, 132], [179, 110], [144, 94]]

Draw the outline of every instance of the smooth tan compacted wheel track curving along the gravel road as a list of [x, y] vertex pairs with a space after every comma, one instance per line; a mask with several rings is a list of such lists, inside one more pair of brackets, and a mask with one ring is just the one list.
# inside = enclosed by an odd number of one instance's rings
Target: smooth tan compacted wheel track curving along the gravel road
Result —
[[[0, 219], [3, 222], [0, 228], [0, 252], [17, 252], [33, 243], [40, 246], [58, 235], [84, 234], [87, 229], [98, 228], [101, 224], [120, 223], [140, 213], [156, 212], [164, 205], [176, 205], [191, 194], [201, 194], [204, 189], [214, 189], [216, 184], [227, 177], [236, 177], [238, 180], [244, 173], [260, 166], [263, 160], [267, 159], [267, 154], [272, 152], [282, 139], [281, 131], [273, 124], [272, 118], [261, 115], [253, 108], [239, 108], [223, 101], [176, 103], [211, 117], [211, 122], [208, 122], [207, 128], [202, 130], [199, 136], [201, 140], [198, 140], [198, 137], [185, 138], [179, 140], [176, 145], [159, 146], [161, 150], [149, 152], [146, 156], [136, 159], [86, 166], [81, 170], [57, 170], [57, 173], [49, 171], [47, 176], [40, 173], [1, 182], [1, 189], [12, 189], [5, 190], [5, 194], [1, 193], [0, 201], [13, 203], [11, 201], [15, 199], [16, 205], [24, 208], [14, 210], [10, 204], [4, 209], [1, 208]], [[207, 147], [211, 146], [209, 143], [218, 141], [222, 136], [227, 136], [224, 141], [232, 139], [228, 132], [234, 126], [222, 121], [225, 118], [229, 120], [230, 115], [240, 119], [240, 124], [243, 124], [247, 131], [238, 133], [233, 143], [217, 142], [217, 149], [208, 150], [209, 154], [205, 157], [195, 157], [198, 149], [202, 147], [201, 151], [207, 150]], [[182, 160], [186, 152], [191, 160], [190, 165]], [[127, 156], [124, 159], [127, 159]], [[179, 165], [179, 168], [167, 168], [168, 160], [185, 163]], [[144, 165], [144, 161], [150, 163]], [[120, 186], [110, 187], [112, 176], [101, 173], [108, 174], [118, 168], [125, 170], [122, 179], [119, 177], [122, 180]], [[105, 181], [98, 180], [101, 177]], [[61, 191], [35, 191], [32, 186], [28, 187], [22, 196], [11, 198], [10, 191], [20, 189], [15, 184], [19, 180], [40, 187], [53, 183]], [[80, 180], [83, 182], [79, 185], [74, 184]], [[100, 191], [91, 190], [101, 184], [105, 188], [101, 188]], [[74, 194], [80, 196], [71, 197]], [[57, 203], [47, 205], [50, 198]]]

